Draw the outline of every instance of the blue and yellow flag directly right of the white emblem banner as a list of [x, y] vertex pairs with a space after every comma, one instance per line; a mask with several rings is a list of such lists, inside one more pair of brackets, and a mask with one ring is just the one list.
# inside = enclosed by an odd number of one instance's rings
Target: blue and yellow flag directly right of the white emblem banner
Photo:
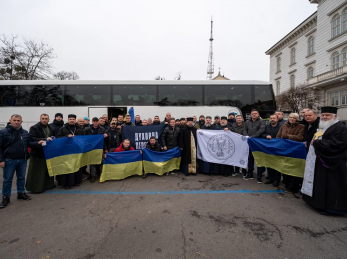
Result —
[[249, 138], [248, 145], [258, 167], [269, 167], [283, 174], [304, 177], [306, 148], [288, 139]]

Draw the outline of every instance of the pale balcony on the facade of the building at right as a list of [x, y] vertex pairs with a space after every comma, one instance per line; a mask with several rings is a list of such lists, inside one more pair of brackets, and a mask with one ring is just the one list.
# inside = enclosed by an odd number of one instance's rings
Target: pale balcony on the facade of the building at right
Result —
[[339, 80], [347, 79], [347, 66], [339, 67], [338, 69], [330, 70], [323, 74], [317, 75], [307, 80], [310, 86], [323, 87], [332, 83], [337, 83]]

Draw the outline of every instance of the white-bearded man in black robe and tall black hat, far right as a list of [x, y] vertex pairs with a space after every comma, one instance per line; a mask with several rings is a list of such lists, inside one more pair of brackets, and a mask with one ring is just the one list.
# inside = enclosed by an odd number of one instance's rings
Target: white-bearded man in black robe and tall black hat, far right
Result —
[[[310, 143], [308, 159], [315, 153], [315, 163], [306, 163], [303, 193], [311, 189], [312, 197], [304, 194], [303, 200], [324, 215], [347, 215], [347, 128], [337, 117], [336, 107], [322, 107], [319, 129]], [[314, 157], [314, 156], [313, 156]], [[312, 176], [312, 175], [311, 175]]]

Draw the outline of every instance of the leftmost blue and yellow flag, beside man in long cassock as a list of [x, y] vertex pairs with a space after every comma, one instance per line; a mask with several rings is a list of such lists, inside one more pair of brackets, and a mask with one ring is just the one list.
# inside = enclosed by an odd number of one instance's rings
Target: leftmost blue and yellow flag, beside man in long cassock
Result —
[[104, 135], [74, 136], [47, 141], [43, 146], [50, 176], [71, 174], [102, 161]]

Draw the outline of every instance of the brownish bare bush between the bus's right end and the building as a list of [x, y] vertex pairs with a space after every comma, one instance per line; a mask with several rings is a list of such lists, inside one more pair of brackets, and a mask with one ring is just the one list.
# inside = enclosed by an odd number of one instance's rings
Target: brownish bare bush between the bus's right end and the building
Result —
[[276, 96], [279, 110], [290, 110], [297, 113], [304, 108], [319, 110], [322, 101], [323, 95], [319, 89], [304, 84], [291, 87]]

